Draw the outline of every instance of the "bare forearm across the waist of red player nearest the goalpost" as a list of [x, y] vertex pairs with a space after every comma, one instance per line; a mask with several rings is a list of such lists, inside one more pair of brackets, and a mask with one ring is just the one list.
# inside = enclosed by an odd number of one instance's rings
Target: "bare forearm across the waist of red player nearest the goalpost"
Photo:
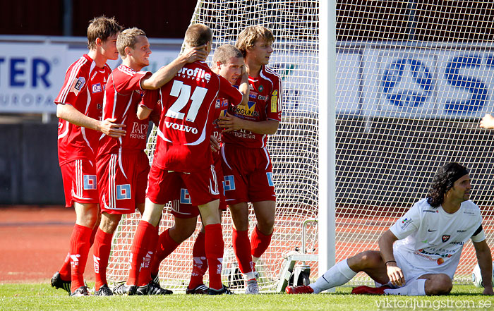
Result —
[[266, 121], [249, 121], [243, 118], [233, 116], [227, 112], [226, 116], [219, 116], [218, 126], [224, 128], [225, 132], [231, 130], [250, 130], [256, 134], [275, 134], [278, 130], [279, 122], [276, 120]]

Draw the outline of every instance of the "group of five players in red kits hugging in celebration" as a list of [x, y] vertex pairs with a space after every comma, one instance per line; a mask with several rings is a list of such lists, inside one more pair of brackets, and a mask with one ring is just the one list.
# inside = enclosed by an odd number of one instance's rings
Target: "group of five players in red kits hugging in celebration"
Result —
[[[90, 22], [90, 51], [68, 68], [55, 100], [66, 207], [74, 206], [77, 219], [52, 286], [73, 296], [90, 295], [83, 273], [94, 243], [95, 295], [171, 293], [159, 286], [159, 263], [191, 236], [200, 214], [203, 229], [195, 240], [186, 293], [231, 293], [221, 281], [221, 211], [229, 205], [246, 293], [259, 292], [255, 261], [270, 245], [275, 222], [266, 141], [276, 133], [282, 111], [280, 79], [266, 67], [274, 40], [266, 28], [248, 27], [237, 47], [226, 44], [215, 51], [211, 69], [204, 61], [212, 30], [191, 25], [186, 51], [153, 74], [140, 71], [151, 54], [143, 30], [122, 31], [114, 18]], [[111, 71], [106, 62], [119, 54], [122, 63]], [[158, 127], [151, 167], [144, 152], [149, 118]], [[170, 201], [175, 224], [158, 235]], [[251, 239], [248, 202], [258, 220]], [[131, 269], [126, 283], [112, 291], [106, 280], [112, 236], [121, 215], [135, 207], [142, 219], [131, 246]], [[209, 287], [203, 283], [208, 267]]]

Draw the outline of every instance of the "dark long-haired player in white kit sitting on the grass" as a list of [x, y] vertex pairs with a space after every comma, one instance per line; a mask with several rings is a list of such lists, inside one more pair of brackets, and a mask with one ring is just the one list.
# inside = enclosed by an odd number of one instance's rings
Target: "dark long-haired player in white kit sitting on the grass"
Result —
[[409, 209], [379, 238], [380, 252], [367, 250], [338, 262], [309, 286], [287, 293], [320, 293], [366, 272], [378, 287], [359, 286], [354, 294], [447, 295], [464, 243], [474, 243], [485, 295], [493, 295], [492, 256], [480, 209], [470, 197], [470, 177], [457, 163], [442, 166], [428, 196]]

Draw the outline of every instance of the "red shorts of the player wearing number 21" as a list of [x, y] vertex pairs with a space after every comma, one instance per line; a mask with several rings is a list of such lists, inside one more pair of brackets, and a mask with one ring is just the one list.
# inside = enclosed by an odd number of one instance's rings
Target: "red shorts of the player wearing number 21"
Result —
[[183, 185], [188, 189], [188, 195], [183, 195], [184, 200], [190, 200], [192, 205], [205, 205], [219, 198], [213, 165], [209, 169], [194, 173], [167, 171], [152, 165], [147, 180], [146, 197], [155, 204], [164, 205], [176, 200], [177, 193], [181, 193]]

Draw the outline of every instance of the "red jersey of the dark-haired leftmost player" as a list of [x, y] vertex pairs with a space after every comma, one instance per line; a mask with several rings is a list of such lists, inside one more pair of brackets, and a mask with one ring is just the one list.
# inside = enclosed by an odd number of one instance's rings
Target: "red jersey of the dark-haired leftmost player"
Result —
[[[105, 63], [103, 68], [87, 55], [68, 67], [64, 86], [54, 100], [55, 104], [70, 104], [81, 113], [101, 120], [104, 85], [112, 69]], [[66, 164], [76, 159], [95, 161], [100, 133], [76, 126], [59, 119], [59, 163]]]

